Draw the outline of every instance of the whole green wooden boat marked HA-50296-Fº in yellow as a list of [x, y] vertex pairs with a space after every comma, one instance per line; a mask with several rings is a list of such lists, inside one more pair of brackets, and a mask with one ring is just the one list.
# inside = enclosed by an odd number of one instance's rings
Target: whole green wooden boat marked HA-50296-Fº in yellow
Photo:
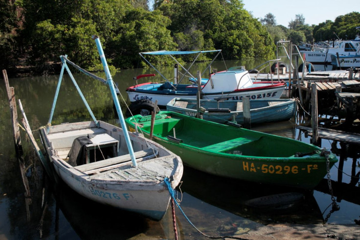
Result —
[[[151, 116], [126, 121], [130, 131], [149, 137]], [[153, 141], [198, 170], [246, 181], [312, 189], [327, 173], [321, 148], [293, 139], [162, 111], [154, 121]], [[329, 168], [335, 154], [327, 153]]]

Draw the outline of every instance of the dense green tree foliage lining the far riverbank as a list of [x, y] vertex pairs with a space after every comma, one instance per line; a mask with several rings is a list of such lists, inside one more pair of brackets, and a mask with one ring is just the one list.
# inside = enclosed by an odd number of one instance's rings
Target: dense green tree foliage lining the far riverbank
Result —
[[[225, 59], [272, 58], [280, 39], [297, 44], [329, 39], [332, 32], [354, 38], [360, 23], [357, 12], [317, 26], [305, 24], [298, 14], [285, 27], [276, 25], [271, 13], [260, 21], [252, 17], [242, 0], [154, 3], [155, 10], [150, 11], [148, 0], [1, 0], [0, 67], [25, 58], [40, 73], [67, 54], [80, 66], [98, 70], [93, 34], [100, 36], [107, 59], [116, 68], [144, 66], [139, 52], [163, 49], [222, 49]], [[198, 60], [206, 59], [205, 55]]]

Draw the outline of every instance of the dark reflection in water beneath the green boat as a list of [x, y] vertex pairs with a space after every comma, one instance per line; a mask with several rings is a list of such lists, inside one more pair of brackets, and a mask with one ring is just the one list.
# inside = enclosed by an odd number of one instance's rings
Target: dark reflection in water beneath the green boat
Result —
[[184, 168], [182, 181], [183, 192], [258, 223], [323, 222], [313, 192], [309, 190], [218, 177], [188, 167]]

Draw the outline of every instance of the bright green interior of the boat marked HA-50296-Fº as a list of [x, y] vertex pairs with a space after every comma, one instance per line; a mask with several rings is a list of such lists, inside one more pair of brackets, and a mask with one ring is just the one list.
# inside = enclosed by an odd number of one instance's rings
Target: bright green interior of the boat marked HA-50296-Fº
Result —
[[[168, 115], [170, 117], [168, 117]], [[150, 132], [151, 116], [138, 119], [143, 130]], [[211, 127], [216, 124], [217, 127]], [[291, 139], [239, 129], [217, 123], [203, 124], [191, 117], [171, 114], [156, 116], [154, 135], [173, 142], [187, 144], [206, 151], [258, 157], [294, 157], [295, 154], [312, 155], [315, 148]], [[169, 138], [168, 138], [169, 136]], [[256, 153], [254, 155], [254, 153]]]

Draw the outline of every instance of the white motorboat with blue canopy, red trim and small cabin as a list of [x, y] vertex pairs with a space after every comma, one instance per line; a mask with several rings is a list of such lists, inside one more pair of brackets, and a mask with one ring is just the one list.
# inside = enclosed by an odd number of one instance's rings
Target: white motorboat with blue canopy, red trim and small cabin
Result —
[[[244, 96], [248, 96], [251, 99], [260, 98], [280, 98], [284, 89], [285, 83], [279, 81], [268, 81], [268, 82], [253, 82], [246, 70], [228, 70], [222, 72], [213, 72], [210, 74], [208, 81], [205, 84], [199, 86], [197, 83], [194, 84], [180, 84], [186, 75], [189, 78], [197, 79], [190, 73], [190, 68], [198, 56], [202, 53], [216, 52], [218, 56], [221, 50], [212, 51], [155, 51], [155, 52], [141, 52], [140, 56], [153, 67], [165, 80], [164, 83], [147, 82], [142, 84], [136, 84], [126, 89], [130, 101], [133, 103], [138, 100], [151, 100], [155, 102], [158, 100], [158, 105], [166, 106], [166, 104], [174, 97], [186, 97], [196, 98], [196, 95], [201, 89], [203, 98], [215, 99], [217, 97], [231, 97], [231, 99], [242, 99]], [[180, 62], [175, 59], [174, 56], [197, 54], [195, 60], [188, 69], [182, 67]], [[176, 62], [175, 67], [175, 83], [169, 81], [164, 75], [162, 75], [145, 57], [144, 55], [160, 55], [170, 56]], [[216, 59], [213, 58], [211, 63]], [[211, 63], [204, 70], [211, 69]], [[181, 66], [185, 71], [181, 73], [182, 77], [179, 79], [179, 71], [177, 66]], [[203, 72], [203, 73], [204, 73]], [[202, 73], [202, 74], [203, 74]], [[138, 76], [139, 77], [139, 76]], [[138, 78], [136, 77], [136, 79]]]

